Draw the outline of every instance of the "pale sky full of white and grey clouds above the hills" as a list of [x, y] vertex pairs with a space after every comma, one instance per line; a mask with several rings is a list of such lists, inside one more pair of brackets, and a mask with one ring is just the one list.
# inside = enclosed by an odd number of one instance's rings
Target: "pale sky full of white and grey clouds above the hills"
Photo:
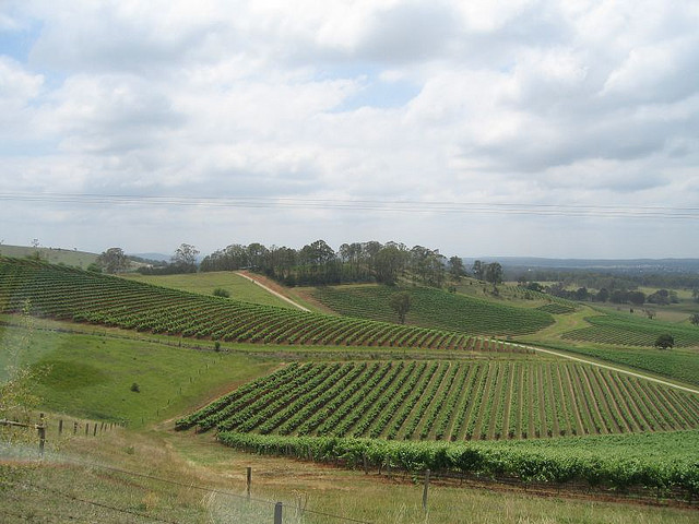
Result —
[[696, 0], [0, 0], [0, 240], [699, 257]]

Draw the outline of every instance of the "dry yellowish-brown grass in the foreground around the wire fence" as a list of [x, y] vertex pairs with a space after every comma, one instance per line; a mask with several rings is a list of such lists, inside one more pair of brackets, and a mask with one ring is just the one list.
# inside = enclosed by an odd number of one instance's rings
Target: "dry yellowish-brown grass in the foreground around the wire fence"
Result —
[[[49, 448], [54, 437], [49, 433]], [[73, 460], [96, 466], [75, 465], [70, 462]], [[420, 505], [422, 486], [402, 476], [393, 475], [389, 480], [386, 474], [378, 476], [376, 471], [365, 475], [360, 469], [241, 453], [213, 443], [205, 436], [126, 430], [109, 431], [98, 438], [64, 438], [58, 451], [43, 463], [3, 463], [0, 514], [7, 524], [272, 522], [272, 504], [248, 504], [240, 497], [245, 496], [248, 466], [252, 468], [253, 499], [282, 501], [284, 522], [291, 524], [301, 524], [295, 517], [299, 500], [306, 501], [310, 510], [303, 524], [342, 522], [310, 512], [376, 524], [690, 524], [697, 519], [697, 511], [691, 509], [576, 500], [566, 493], [556, 496], [555, 491], [552, 497], [534, 497], [531, 491], [517, 488], [503, 491], [487, 479], [482, 486], [469, 487], [433, 483], [429, 512], [425, 513]]]

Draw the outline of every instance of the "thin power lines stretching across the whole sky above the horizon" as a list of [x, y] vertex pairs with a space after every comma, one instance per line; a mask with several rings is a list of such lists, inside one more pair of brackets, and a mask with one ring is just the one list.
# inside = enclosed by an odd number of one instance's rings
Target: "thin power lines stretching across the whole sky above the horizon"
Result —
[[699, 207], [660, 205], [528, 204], [513, 202], [460, 202], [417, 200], [304, 199], [270, 196], [154, 196], [96, 193], [0, 193], [0, 201], [85, 205], [159, 205], [228, 209], [303, 209], [431, 214], [506, 214], [570, 217], [698, 219]]

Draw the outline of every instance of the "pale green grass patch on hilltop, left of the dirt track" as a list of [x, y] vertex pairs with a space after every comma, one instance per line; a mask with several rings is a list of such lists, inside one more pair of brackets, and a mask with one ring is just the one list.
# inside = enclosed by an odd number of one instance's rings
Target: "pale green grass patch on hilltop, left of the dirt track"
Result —
[[156, 286], [171, 287], [182, 291], [212, 295], [214, 289], [222, 288], [230, 294], [230, 298], [262, 306], [276, 306], [280, 308], [293, 308], [291, 303], [282, 300], [257, 284], [251, 283], [229, 271], [212, 273], [189, 273], [182, 275], [140, 275], [129, 273], [122, 275], [135, 282], [154, 284]]

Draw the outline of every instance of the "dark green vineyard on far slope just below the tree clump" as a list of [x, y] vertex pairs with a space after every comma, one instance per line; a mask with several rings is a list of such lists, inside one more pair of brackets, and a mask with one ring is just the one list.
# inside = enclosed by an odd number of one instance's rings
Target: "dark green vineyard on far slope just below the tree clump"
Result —
[[545, 311], [516, 308], [429, 287], [341, 286], [319, 287], [313, 297], [332, 310], [348, 317], [394, 321], [390, 307], [393, 294], [411, 295], [406, 322], [441, 330], [483, 335], [534, 333], [554, 323]]

